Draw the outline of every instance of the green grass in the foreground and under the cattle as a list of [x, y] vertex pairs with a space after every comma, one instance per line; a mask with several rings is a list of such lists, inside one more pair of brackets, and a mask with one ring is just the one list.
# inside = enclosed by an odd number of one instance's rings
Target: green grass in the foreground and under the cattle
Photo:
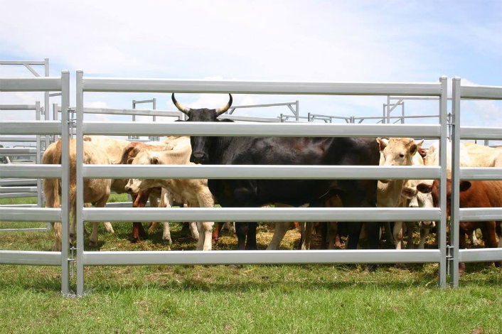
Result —
[[[195, 249], [181, 225], [137, 244], [131, 224], [100, 226], [87, 250]], [[52, 232], [1, 232], [0, 249], [49, 250]], [[272, 233], [260, 227], [259, 248]], [[287, 233], [282, 249], [298, 244]], [[225, 233], [217, 249], [235, 249]], [[467, 264], [460, 289], [437, 289], [436, 264], [92, 266], [86, 295], [60, 296], [60, 269], [0, 266], [0, 333], [502, 333], [502, 271]], [[75, 286], [73, 279], [72, 285]], [[477, 332], [476, 332], [477, 331]]]

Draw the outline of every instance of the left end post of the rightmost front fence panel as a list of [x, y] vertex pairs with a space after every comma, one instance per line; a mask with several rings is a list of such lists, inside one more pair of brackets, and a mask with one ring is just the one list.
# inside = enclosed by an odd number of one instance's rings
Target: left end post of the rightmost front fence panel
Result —
[[[452, 212], [450, 215], [450, 243], [453, 247], [451, 284], [459, 287], [459, 174], [460, 174], [460, 78], [452, 80]], [[464, 237], [464, 236], [462, 236]]]

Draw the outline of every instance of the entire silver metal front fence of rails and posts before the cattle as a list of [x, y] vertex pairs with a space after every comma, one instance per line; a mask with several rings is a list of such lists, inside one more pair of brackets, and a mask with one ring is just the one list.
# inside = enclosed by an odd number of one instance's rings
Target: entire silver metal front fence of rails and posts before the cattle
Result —
[[[459, 168], [460, 139], [502, 139], [501, 129], [459, 127], [459, 101], [469, 99], [502, 99], [502, 87], [461, 86], [454, 80], [452, 138], [454, 171], [453, 180], [491, 179], [501, 180], [501, 168]], [[126, 264], [302, 264], [302, 263], [397, 263], [433, 262], [439, 264], [439, 286], [447, 286], [447, 263], [481, 262], [502, 260], [502, 249], [458, 249], [458, 233], [453, 232], [451, 245], [447, 245], [446, 215], [446, 168], [441, 167], [377, 167], [377, 166], [128, 166], [84, 165], [82, 162], [82, 138], [85, 134], [110, 136], [411, 136], [439, 139], [447, 145], [447, 79], [432, 83], [306, 83], [306, 82], [242, 82], [209, 80], [146, 80], [85, 77], [77, 72], [76, 139], [77, 139], [77, 294], [84, 293], [84, 266]], [[28, 79], [0, 79], [1, 91], [60, 91], [62, 94], [60, 121], [48, 122], [1, 122], [2, 134], [19, 135], [60, 134], [63, 143], [68, 142], [68, 72], [61, 77]], [[131, 123], [131, 122], [84, 122], [85, 92], [205, 92], [233, 94], [299, 94], [299, 95], [397, 95], [403, 97], [434, 97], [439, 104], [439, 125], [405, 124], [314, 124], [314, 123]], [[229, 115], [230, 116], [230, 115]], [[282, 118], [282, 117], [281, 117]], [[352, 122], [353, 123], [353, 122]], [[63, 145], [63, 159], [68, 161], [68, 145]], [[66, 159], [64, 157], [67, 157]], [[440, 166], [446, 166], [446, 151], [440, 155]], [[62, 267], [62, 291], [68, 293], [68, 164], [0, 166], [2, 177], [14, 178], [61, 178], [63, 197], [61, 209], [47, 208], [0, 208], [1, 220], [6, 221], [60, 221], [63, 222], [63, 249], [61, 252], [14, 252], [0, 251], [0, 264], [41, 264]], [[84, 178], [260, 178], [260, 179], [399, 179], [413, 173], [419, 179], [439, 179], [442, 185], [440, 208], [83, 208], [82, 184]], [[458, 182], [457, 182], [458, 183]], [[458, 199], [454, 189], [453, 200]], [[459, 220], [502, 220], [502, 209], [452, 210], [453, 229]], [[375, 217], [377, 217], [375, 219]], [[319, 251], [213, 251], [213, 252], [85, 252], [83, 247], [83, 222], [94, 221], [419, 221], [439, 222], [438, 249], [425, 250], [319, 250]], [[456, 230], [453, 230], [456, 231]], [[458, 230], [457, 230], [458, 231]], [[452, 270], [452, 284], [458, 286], [458, 273]]]

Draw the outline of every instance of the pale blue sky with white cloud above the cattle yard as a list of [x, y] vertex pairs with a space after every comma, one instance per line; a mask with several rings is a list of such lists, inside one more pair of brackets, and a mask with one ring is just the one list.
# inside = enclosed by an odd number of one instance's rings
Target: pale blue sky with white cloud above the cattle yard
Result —
[[[502, 0], [0, 0], [0, 8], [0, 60], [49, 58], [51, 76], [69, 70], [73, 105], [75, 70], [89, 77], [299, 82], [438, 82], [446, 75], [460, 77], [464, 84], [502, 86]], [[31, 76], [23, 66], [0, 65], [0, 77]], [[132, 99], [152, 97], [157, 109], [174, 110], [168, 94], [88, 93], [85, 106], [130, 108]], [[188, 107], [210, 108], [228, 99], [211, 94], [177, 97]], [[0, 92], [0, 103], [36, 99], [42, 95]], [[301, 116], [378, 117], [386, 97], [234, 95], [234, 105], [296, 100]], [[501, 102], [466, 101], [461, 107], [461, 124], [502, 126]], [[235, 112], [262, 117], [281, 113], [291, 114], [287, 107]], [[434, 115], [438, 102], [405, 101], [405, 113]], [[30, 112], [0, 115], [33, 117]]]

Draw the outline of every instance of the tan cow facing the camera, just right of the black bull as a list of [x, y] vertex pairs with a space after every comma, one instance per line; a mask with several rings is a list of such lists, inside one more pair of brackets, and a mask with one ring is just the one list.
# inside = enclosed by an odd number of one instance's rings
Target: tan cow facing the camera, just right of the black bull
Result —
[[[423, 143], [423, 140], [415, 142], [412, 138], [377, 138], [376, 141], [380, 149], [380, 166], [412, 166], [413, 156]], [[397, 208], [402, 205], [402, 188], [406, 182], [407, 180], [378, 181], [377, 207]], [[402, 222], [395, 222], [392, 232], [396, 249], [401, 249]]]

